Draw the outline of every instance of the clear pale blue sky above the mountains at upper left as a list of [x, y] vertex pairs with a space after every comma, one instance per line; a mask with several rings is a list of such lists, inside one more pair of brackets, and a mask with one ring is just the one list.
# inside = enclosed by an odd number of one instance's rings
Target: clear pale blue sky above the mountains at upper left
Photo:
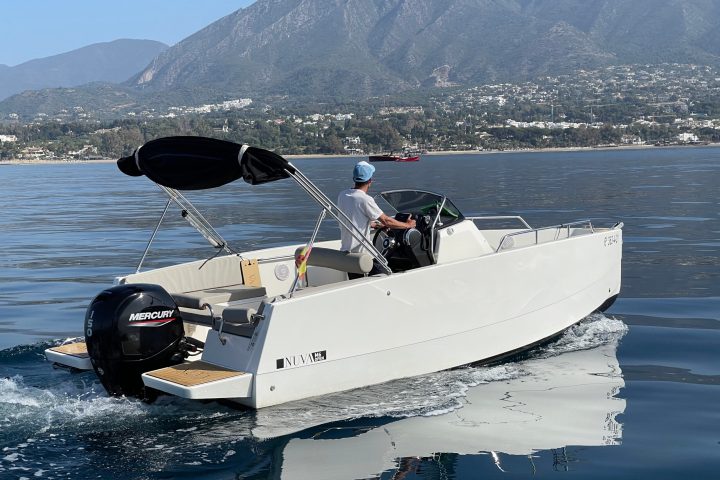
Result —
[[255, 0], [2, 0], [0, 64], [120, 38], [174, 45]]

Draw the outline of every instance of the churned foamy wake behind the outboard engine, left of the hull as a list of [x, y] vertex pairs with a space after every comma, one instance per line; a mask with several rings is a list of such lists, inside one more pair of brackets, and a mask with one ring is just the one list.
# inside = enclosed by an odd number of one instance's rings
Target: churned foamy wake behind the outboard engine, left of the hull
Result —
[[0, 478], [139, 478], [222, 463], [250, 429], [246, 412], [217, 404], [109, 397], [94, 372], [49, 368], [43, 352], [56, 343], [0, 351]]

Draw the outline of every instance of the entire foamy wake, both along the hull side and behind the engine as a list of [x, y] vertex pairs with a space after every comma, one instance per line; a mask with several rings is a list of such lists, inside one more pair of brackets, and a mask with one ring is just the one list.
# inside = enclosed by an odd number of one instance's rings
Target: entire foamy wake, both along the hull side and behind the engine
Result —
[[[72, 477], [88, 468], [120, 472], [118, 478], [187, 471], [237, 462], [242, 455], [236, 452], [255, 451], [266, 439], [332, 422], [442, 415], [462, 408], [471, 388], [536, 375], [533, 365], [543, 359], [617, 343], [626, 330], [620, 320], [591, 315], [522, 361], [463, 367], [259, 411], [170, 396], [153, 404], [109, 397], [93, 372], [48, 368], [42, 352], [49, 343], [14, 347], [0, 351], [0, 477]], [[63, 462], [58, 449], [84, 454]]]

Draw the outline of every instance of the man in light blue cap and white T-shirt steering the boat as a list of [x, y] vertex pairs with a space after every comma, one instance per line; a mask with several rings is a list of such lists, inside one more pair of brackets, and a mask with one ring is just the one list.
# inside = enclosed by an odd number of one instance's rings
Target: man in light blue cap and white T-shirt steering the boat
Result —
[[[414, 228], [415, 220], [410, 219], [407, 222], [401, 222], [385, 215], [380, 207], [378, 207], [375, 199], [368, 195], [367, 192], [372, 184], [374, 173], [374, 166], [365, 161], [358, 162], [355, 168], [353, 168], [353, 181], [355, 182], [355, 186], [340, 192], [337, 201], [338, 208], [348, 216], [350, 221], [353, 222], [358, 230], [363, 232], [368, 240], [370, 240], [370, 227], [372, 227], [373, 224], [378, 228]], [[340, 227], [340, 250], [353, 253], [363, 250], [362, 244], [352, 236], [350, 231], [342, 226]], [[370, 275], [380, 272], [382, 272], [382, 270], [373, 261], [373, 269]], [[350, 278], [360, 276], [350, 275]]]

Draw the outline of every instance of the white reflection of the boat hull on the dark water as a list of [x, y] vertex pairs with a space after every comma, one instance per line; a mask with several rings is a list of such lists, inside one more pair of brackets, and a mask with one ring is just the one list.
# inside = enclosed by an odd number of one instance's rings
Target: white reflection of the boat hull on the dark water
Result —
[[391, 470], [417, 472], [442, 452], [490, 454], [503, 470], [504, 455], [573, 446], [617, 445], [617, 416], [625, 385], [617, 342], [519, 365], [523, 374], [472, 388], [463, 407], [446, 415], [416, 416], [369, 428], [331, 427], [283, 449], [283, 479], [368, 478]]

